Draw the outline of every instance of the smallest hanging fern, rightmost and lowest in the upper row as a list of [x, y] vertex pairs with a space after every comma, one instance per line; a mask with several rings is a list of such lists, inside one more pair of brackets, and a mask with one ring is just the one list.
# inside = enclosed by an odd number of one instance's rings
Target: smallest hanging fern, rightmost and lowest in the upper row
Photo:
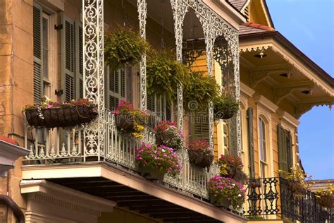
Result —
[[239, 110], [239, 103], [233, 97], [221, 95], [214, 98], [214, 119], [230, 119]]

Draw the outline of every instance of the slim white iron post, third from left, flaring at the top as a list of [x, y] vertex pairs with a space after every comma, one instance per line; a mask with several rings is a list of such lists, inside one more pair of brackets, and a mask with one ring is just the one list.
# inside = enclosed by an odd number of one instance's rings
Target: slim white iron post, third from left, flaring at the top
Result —
[[[183, 0], [171, 0], [171, 6], [174, 18], [176, 59], [182, 63], [183, 20], [188, 6], [184, 4]], [[183, 132], [183, 86], [178, 84], [177, 88], [178, 128]]]

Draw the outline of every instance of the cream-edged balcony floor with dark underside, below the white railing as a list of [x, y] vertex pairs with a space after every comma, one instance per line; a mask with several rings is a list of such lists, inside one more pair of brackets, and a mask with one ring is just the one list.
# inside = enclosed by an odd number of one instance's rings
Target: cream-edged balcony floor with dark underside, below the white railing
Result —
[[106, 162], [25, 166], [23, 179], [47, 179], [164, 222], [246, 222], [233, 212]]

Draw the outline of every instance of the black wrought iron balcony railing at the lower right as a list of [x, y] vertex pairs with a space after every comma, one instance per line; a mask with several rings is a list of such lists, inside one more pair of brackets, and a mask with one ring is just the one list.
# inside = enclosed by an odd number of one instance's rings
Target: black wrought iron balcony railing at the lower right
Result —
[[330, 222], [330, 210], [322, 207], [311, 191], [280, 177], [251, 179], [247, 186], [245, 216], [268, 219], [276, 215], [299, 222]]

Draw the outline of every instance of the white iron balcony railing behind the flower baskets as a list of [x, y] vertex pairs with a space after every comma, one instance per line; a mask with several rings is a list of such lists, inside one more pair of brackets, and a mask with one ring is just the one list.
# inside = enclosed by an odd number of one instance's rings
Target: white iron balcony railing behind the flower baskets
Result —
[[[138, 171], [135, 165], [135, 150], [140, 147], [140, 140], [118, 131], [111, 111], [106, 110], [105, 117], [104, 146], [99, 154], [86, 147], [84, 126], [32, 128], [25, 123], [25, 147], [30, 150], [30, 154], [25, 157], [24, 164], [96, 162], [99, 156], [102, 161], [125, 167], [125, 171]], [[149, 131], [145, 138], [148, 143], [155, 141], [154, 133]], [[209, 199], [206, 183], [218, 173], [216, 165], [213, 164], [207, 171], [190, 164], [186, 149], [178, 151], [178, 155], [183, 166], [182, 171], [175, 177], [166, 174], [162, 183], [199, 198]]]

